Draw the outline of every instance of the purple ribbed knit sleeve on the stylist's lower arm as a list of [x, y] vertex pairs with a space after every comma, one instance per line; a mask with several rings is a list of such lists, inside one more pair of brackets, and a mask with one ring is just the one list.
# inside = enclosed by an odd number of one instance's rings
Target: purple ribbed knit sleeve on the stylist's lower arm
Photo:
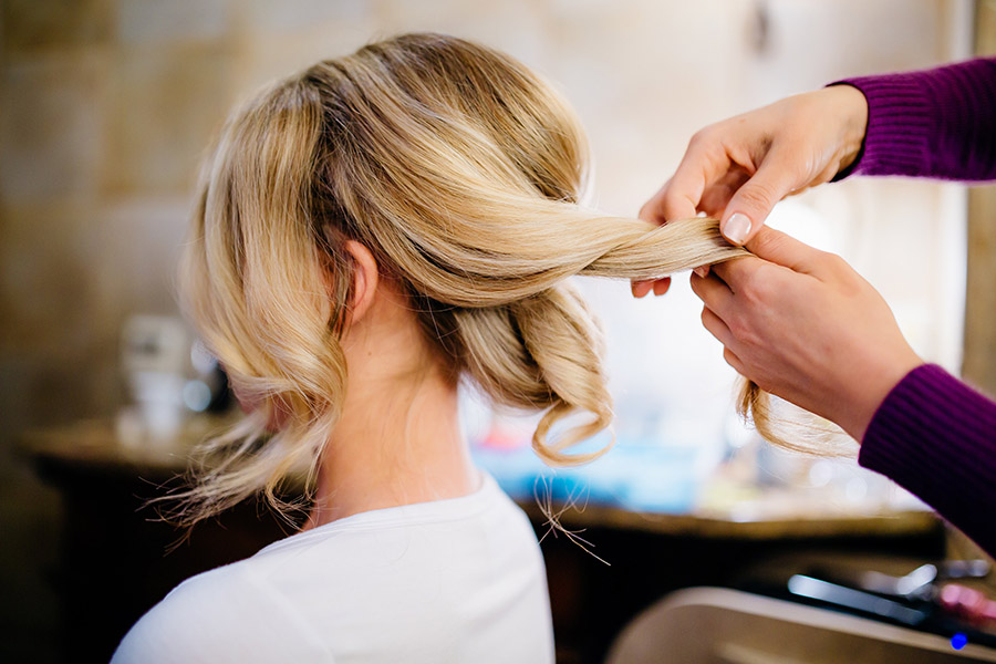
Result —
[[879, 406], [858, 460], [996, 556], [996, 402], [924, 364]]

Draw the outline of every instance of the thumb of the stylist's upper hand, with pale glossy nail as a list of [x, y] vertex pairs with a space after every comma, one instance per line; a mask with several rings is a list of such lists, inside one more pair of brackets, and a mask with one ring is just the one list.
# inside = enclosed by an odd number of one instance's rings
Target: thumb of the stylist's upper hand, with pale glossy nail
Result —
[[719, 228], [734, 245], [744, 245], [764, 226], [775, 204], [796, 187], [796, 169], [772, 149], [754, 176], [730, 197]]

